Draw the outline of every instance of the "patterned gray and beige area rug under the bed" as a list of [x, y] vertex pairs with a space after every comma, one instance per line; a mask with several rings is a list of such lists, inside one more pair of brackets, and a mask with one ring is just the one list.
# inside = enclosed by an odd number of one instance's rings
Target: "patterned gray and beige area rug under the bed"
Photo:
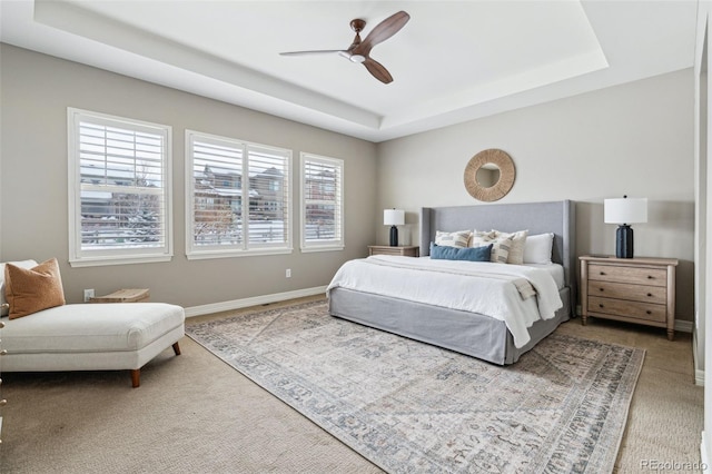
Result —
[[612, 472], [644, 350], [553, 334], [512, 366], [332, 317], [325, 302], [188, 335], [388, 472]]

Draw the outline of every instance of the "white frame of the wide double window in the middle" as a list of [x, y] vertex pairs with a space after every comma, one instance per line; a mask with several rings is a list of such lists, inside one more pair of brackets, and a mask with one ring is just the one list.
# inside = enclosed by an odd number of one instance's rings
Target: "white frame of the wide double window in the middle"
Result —
[[[287, 215], [287, 223], [285, 227], [285, 241], [284, 243], [267, 243], [267, 244], [250, 244], [249, 238], [243, 238], [243, 243], [231, 246], [201, 246], [195, 245], [195, 180], [194, 180], [194, 148], [192, 144], [195, 139], [201, 139], [207, 142], [220, 144], [222, 146], [229, 146], [240, 148], [243, 151], [243, 175], [240, 179], [240, 188], [243, 191], [247, 191], [249, 196], [249, 152], [251, 150], [268, 150], [276, 154], [284, 154], [286, 172], [284, 175], [284, 185], [286, 186], [286, 198], [284, 204], [284, 211]], [[186, 129], [186, 257], [189, 260], [194, 259], [208, 259], [208, 258], [233, 258], [233, 257], [248, 257], [260, 255], [284, 255], [291, 254], [294, 251], [293, 238], [294, 233], [294, 189], [291, 186], [291, 169], [293, 169], [293, 152], [289, 149], [275, 147], [270, 145], [256, 144], [237, 138], [224, 137], [212, 134], [206, 134], [197, 130]], [[245, 179], [248, 176], [248, 179]], [[241, 199], [241, 215], [249, 216], [249, 199]], [[249, 236], [249, 220], [247, 227], [243, 228], [244, 236]]]

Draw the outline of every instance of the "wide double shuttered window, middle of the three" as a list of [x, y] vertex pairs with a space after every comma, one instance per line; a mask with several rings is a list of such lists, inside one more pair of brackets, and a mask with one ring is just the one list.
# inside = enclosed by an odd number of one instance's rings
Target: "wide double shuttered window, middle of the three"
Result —
[[291, 151], [186, 132], [188, 258], [291, 251]]

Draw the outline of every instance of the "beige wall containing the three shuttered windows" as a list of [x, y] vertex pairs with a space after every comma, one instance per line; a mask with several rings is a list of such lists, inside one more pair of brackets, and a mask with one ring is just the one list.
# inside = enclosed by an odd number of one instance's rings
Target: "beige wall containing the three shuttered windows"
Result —
[[[374, 144], [8, 45], [0, 48], [0, 260], [57, 257], [70, 303], [81, 300], [83, 288], [100, 295], [148, 287], [152, 300], [186, 307], [298, 292], [327, 285], [343, 261], [366, 255], [366, 246], [373, 244]], [[175, 257], [170, 263], [69, 266], [67, 107], [172, 127]], [[301, 254], [295, 206], [291, 255], [187, 260], [186, 129], [291, 149], [295, 171], [300, 151], [344, 159], [346, 249]], [[298, 179], [294, 172], [296, 203]]]

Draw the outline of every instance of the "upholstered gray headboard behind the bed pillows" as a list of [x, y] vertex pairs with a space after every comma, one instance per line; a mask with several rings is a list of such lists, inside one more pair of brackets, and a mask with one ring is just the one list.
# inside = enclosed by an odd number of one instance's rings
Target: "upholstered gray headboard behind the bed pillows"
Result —
[[576, 209], [571, 200], [477, 206], [424, 207], [421, 209], [421, 255], [429, 255], [437, 230], [528, 230], [554, 233], [552, 260], [564, 267], [566, 286], [576, 300]]

